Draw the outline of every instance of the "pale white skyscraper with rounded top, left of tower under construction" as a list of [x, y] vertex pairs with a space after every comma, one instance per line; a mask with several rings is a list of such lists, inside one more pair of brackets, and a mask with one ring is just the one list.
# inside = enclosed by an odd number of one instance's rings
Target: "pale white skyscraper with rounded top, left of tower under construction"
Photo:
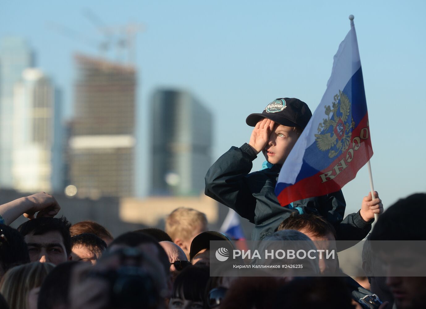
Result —
[[12, 184], [18, 191], [63, 190], [58, 96], [40, 69], [25, 69], [14, 86]]

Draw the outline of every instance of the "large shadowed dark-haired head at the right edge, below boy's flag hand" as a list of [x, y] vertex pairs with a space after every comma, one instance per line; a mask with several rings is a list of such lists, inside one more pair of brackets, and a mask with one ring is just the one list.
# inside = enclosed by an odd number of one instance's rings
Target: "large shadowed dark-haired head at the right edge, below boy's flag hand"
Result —
[[[380, 215], [370, 234], [370, 240], [426, 240], [425, 206], [426, 193], [417, 193], [398, 200]], [[400, 270], [400, 267], [421, 267], [424, 265], [424, 256], [416, 256], [416, 248], [413, 247], [395, 247], [392, 251], [380, 254], [380, 248], [375, 248], [376, 243], [372, 243], [371, 247], [373, 253], [379, 254], [386, 265], [386, 284], [394, 296], [397, 308], [423, 308], [426, 303], [426, 277], [393, 277], [392, 272], [394, 269]], [[423, 246], [420, 244], [420, 247]]]

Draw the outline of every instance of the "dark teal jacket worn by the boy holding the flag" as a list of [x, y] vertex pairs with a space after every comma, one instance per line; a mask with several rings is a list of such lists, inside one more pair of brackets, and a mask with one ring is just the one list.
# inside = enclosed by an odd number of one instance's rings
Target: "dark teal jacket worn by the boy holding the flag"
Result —
[[[337, 232], [337, 240], [358, 242], [371, 230], [359, 212], [345, 219], [345, 199], [342, 191], [293, 202], [293, 208], [282, 207], [274, 193], [280, 165], [250, 173], [256, 153], [248, 144], [231, 147], [207, 171], [205, 194], [232, 208], [256, 226], [252, 240], [262, 240], [272, 234], [291, 213], [319, 214]], [[342, 249], [342, 248], [339, 248]]]

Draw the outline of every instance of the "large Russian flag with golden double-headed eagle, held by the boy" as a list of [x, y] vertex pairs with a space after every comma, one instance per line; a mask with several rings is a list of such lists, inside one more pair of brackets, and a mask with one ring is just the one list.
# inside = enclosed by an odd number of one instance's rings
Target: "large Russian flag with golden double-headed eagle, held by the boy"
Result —
[[334, 55], [331, 77], [320, 105], [279, 173], [275, 187], [279, 203], [287, 206], [299, 199], [339, 191], [372, 155], [363, 72], [352, 18], [351, 30]]

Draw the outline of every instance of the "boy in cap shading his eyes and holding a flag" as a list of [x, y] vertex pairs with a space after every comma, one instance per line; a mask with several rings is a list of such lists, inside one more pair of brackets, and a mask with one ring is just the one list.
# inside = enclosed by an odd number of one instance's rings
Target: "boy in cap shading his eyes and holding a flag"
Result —
[[[231, 147], [207, 171], [205, 194], [254, 223], [252, 240], [272, 234], [294, 212], [325, 217], [336, 229], [338, 240], [361, 240], [371, 229], [374, 213], [383, 207], [380, 199], [370, 199], [366, 207], [363, 203], [358, 213], [343, 220], [346, 204], [342, 191], [279, 205], [274, 193], [278, 173], [311, 116], [308, 105], [299, 99], [272, 101], [261, 114], [247, 117], [246, 123], [254, 127], [250, 142]], [[250, 173], [260, 152], [267, 160], [266, 168]]]

